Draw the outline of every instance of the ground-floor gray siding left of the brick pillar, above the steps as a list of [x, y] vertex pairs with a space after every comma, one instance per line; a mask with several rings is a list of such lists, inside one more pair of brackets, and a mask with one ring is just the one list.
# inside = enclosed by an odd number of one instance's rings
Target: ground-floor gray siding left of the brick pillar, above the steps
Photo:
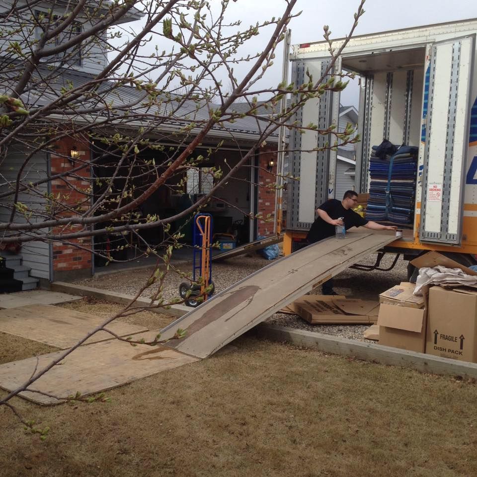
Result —
[[[13, 148], [10, 148], [13, 149]], [[0, 191], [11, 190], [15, 187], [18, 169], [23, 163], [26, 153], [20, 148], [13, 152], [8, 152], [7, 158], [0, 166]], [[34, 182], [47, 176], [47, 156], [46, 154], [37, 154], [30, 160], [22, 180], [26, 183]], [[42, 211], [45, 199], [43, 193], [47, 192], [47, 184], [40, 185], [34, 194], [20, 193], [18, 202], [25, 204], [29, 210]], [[0, 221], [7, 222], [10, 218], [11, 207], [8, 203], [13, 204], [13, 196], [5, 201], [1, 200], [3, 206], [0, 206]], [[32, 219], [33, 220], [33, 219]], [[15, 216], [15, 222], [25, 222], [25, 218], [18, 213]], [[26, 242], [21, 247], [21, 255], [23, 256], [23, 265], [30, 267], [30, 275], [38, 278], [50, 278], [50, 247], [48, 243], [41, 241]]]

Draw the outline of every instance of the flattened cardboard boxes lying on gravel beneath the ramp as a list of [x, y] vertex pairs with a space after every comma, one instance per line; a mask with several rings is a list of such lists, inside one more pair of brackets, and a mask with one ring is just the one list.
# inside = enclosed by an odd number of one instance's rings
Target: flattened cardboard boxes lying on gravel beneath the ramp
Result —
[[378, 310], [376, 302], [336, 296], [305, 296], [298, 304], [299, 315], [311, 324], [374, 324]]

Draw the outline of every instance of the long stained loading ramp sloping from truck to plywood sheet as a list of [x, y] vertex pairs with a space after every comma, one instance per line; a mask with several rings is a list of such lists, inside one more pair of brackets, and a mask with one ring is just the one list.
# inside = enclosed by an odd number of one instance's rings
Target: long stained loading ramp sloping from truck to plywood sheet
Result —
[[240, 280], [162, 330], [171, 338], [178, 328], [182, 339], [167, 346], [206, 358], [256, 324], [270, 317], [362, 257], [395, 241], [394, 235], [348, 233], [309, 245]]

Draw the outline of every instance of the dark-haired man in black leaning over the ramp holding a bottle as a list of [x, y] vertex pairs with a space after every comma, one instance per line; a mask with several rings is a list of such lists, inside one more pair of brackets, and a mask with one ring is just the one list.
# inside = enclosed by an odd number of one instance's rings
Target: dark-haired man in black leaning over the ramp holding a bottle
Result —
[[[347, 190], [344, 193], [343, 200], [329, 199], [321, 204], [318, 209], [318, 218], [313, 223], [307, 235], [308, 243], [315, 243], [319, 240], [333, 237], [335, 227], [343, 225], [346, 230], [351, 227], [366, 227], [371, 230], [396, 230], [397, 227], [381, 225], [371, 220], [366, 220], [352, 209], [356, 207], [358, 194], [354, 190]], [[342, 220], [341, 220], [342, 218]], [[333, 290], [333, 280], [330, 279], [323, 283], [323, 295], [336, 295]]]

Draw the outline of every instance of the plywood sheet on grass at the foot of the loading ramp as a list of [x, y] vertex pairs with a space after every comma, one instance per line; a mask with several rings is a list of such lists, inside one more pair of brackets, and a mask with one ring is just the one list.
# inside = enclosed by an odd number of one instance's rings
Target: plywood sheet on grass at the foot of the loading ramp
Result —
[[[6, 391], [18, 389], [35, 370], [43, 369], [61, 353], [57, 351], [1, 365], [0, 387]], [[63, 398], [76, 395], [77, 392], [86, 396], [195, 361], [197, 358], [164, 346], [131, 346], [124, 341], [105, 341], [79, 347], [29, 389]], [[55, 397], [30, 391], [22, 392], [19, 396], [38, 404], [62, 402]]]

